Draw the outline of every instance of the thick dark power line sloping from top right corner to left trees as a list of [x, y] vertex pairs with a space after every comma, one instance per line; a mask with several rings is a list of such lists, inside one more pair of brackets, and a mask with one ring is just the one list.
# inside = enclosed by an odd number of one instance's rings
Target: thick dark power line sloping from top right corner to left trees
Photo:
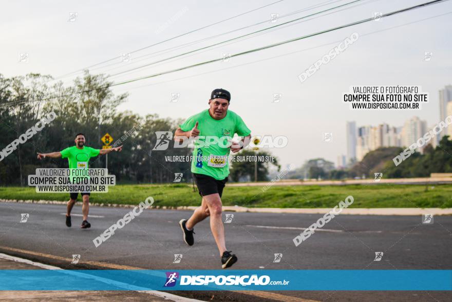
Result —
[[[400, 9], [400, 10], [396, 10], [396, 11], [392, 11], [392, 12], [389, 12], [389, 13], [382, 14], [381, 17], [387, 17], [387, 16], [399, 14], [399, 13], [406, 12], [406, 11], [409, 11], [409, 10], [412, 10], [412, 9], [426, 7], [426, 6], [429, 6], [429, 5], [432, 5], [432, 4], [437, 4], [439, 2], [444, 2], [444, 1], [448, 1], [448, 0], [435, 0], [435, 1], [422, 3], [422, 4], [419, 4], [419, 5], [415, 5], [415, 6], [411, 6], [411, 7], [408, 7], [408, 8], [404, 8], [404, 9]], [[318, 32], [315, 32], [315, 33], [312, 33], [312, 34], [308, 34], [308, 35], [304, 35], [304, 36], [297, 37], [297, 38], [294, 38], [294, 39], [286, 40], [286, 41], [283, 41], [283, 42], [278, 42], [278, 43], [270, 44], [270, 45], [267, 45], [267, 46], [262, 46], [262, 47], [254, 48], [254, 49], [251, 49], [251, 50], [239, 52], [237, 54], [231, 55], [231, 58], [232, 57], [238, 57], [238, 56], [246, 55], [246, 54], [251, 54], [252, 52], [256, 52], [256, 51], [260, 51], [260, 50], [264, 50], [264, 49], [268, 49], [268, 48], [273, 48], [273, 47], [276, 47], [276, 46], [279, 46], [279, 45], [284, 45], [284, 44], [291, 43], [291, 42], [294, 42], [294, 41], [299, 41], [299, 40], [302, 40], [302, 39], [314, 37], [315, 35], [323, 34], [323, 33], [326, 33], [326, 32], [331, 32], [331, 31], [335, 31], [335, 30], [338, 30], [338, 29], [347, 28], [347, 27], [350, 27], [350, 26], [366, 23], [366, 22], [372, 21], [373, 19], [374, 19], [373, 17], [370, 17], [370, 18], [363, 19], [363, 20], [360, 20], [360, 21], [355, 21], [355, 22], [352, 22], [352, 23], [349, 23], [349, 24], [333, 27], [333, 28], [326, 29], [326, 30], [323, 30], [323, 31], [318, 31]], [[103, 89], [103, 88], [108, 88], [108, 87], [113, 87], [113, 86], [118, 86], [118, 85], [123, 85], [123, 84], [136, 82], [136, 81], [140, 81], [140, 80], [144, 80], [144, 79], [154, 78], [154, 77], [157, 77], [157, 76], [178, 72], [180, 70], [189, 69], [189, 68], [193, 68], [193, 67], [197, 67], [197, 66], [213, 63], [213, 62], [218, 62], [220, 60], [222, 60], [222, 58], [214, 59], [214, 60], [210, 60], [210, 61], [205, 61], [205, 62], [201, 62], [201, 63], [197, 63], [197, 64], [192, 64], [192, 65], [184, 66], [184, 67], [180, 67], [180, 68], [175, 68], [175, 69], [167, 70], [166, 72], [161, 72], [161, 73], [157, 73], [157, 74], [153, 74], [153, 75], [149, 75], [149, 76], [144, 76], [144, 77], [140, 77], [140, 78], [136, 78], [136, 79], [131, 79], [131, 80], [127, 80], [127, 81], [123, 81], [123, 82], [119, 82], [119, 83], [109, 84], [109, 85], [105, 85], [103, 87], [98, 87], [98, 88], [91, 89], [91, 90], [80, 91], [80, 92], [77, 92], [77, 94], [86, 93], [86, 92], [90, 92], [90, 91], [94, 91], [94, 90], [98, 90], [98, 89]], [[67, 96], [73, 96], [73, 94], [62, 95], [62, 96], [58, 96], [58, 97], [67, 97]], [[49, 99], [53, 99], [53, 98], [57, 98], [57, 97], [49, 97], [49, 98], [44, 98], [44, 99], [40, 99], [40, 100], [49, 100]], [[40, 101], [40, 100], [34, 100], [34, 101]], [[33, 101], [33, 100], [31, 100], [31, 101]], [[27, 100], [22, 101], [22, 102], [27, 102]], [[19, 101], [17, 101], [17, 103], [19, 103]], [[9, 104], [11, 104], [11, 103], [9, 103]]]

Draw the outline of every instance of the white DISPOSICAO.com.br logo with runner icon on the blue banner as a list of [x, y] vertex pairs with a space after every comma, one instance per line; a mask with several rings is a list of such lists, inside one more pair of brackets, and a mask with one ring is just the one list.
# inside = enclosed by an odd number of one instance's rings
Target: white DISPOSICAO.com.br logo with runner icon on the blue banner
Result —
[[166, 272], [166, 281], [163, 287], [173, 287], [179, 277], [180, 286], [266, 286], [288, 285], [290, 281], [272, 281], [270, 276], [261, 275], [179, 275], [178, 272]]

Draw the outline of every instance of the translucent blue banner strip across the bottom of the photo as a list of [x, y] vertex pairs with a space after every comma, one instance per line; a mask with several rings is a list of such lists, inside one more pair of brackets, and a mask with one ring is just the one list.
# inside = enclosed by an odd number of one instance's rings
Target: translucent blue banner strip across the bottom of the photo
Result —
[[0, 270], [0, 290], [450, 291], [452, 270]]

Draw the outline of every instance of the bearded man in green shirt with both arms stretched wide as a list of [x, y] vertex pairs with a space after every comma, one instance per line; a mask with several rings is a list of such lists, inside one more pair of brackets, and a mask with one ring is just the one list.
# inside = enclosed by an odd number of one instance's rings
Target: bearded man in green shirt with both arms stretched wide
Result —
[[[88, 162], [89, 158], [96, 157], [99, 154], [107, 154], [111, 151], [121, 151], [122, 146], [116, 147], [116, 148], [110, 148], [110, 149], [93, 149], [91, 147], [85, 146], [85, 135], [83, 133], [78, 133], [76, 135], [76, 139], [74, 140], [76, 142], [76, 146], [68, 147], [60, 152], [52, 152], [52, 153], [37, 153], [37, 159], [42, 159], [45, 157], [51, 157], [51, 158], [67, 158], [69, 161], [69, 169], [88, 169]], [[72, 183], [72, 180], [71, 180]], [[91, 224], [88, 222], [88, 212], [89, 212], [89, 192], [80, 192], [83, 199], [83, 206], [82, 206], [82, 213], [83, 213], [83, 222], [82, 222], [82, 228], [89, 228], [91, 227]], [[70, 212], [72, 210], [72, 207], [77, 201], [77, 197], [79, 196], [78, 192], [71, 192], [70, 193], [70, 199], [67, 203], [67, 214], [66, 214], [66, 225], [70, 227], [72, 225], [71, 223], [71, 217]]]

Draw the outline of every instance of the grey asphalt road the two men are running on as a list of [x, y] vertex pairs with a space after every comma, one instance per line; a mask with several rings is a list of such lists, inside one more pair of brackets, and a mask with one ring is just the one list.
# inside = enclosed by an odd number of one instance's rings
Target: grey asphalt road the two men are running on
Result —
[[[195, 245], [182, 241], [178, 221], [191, 211], [145, 210], [99, 247], [92, 240], [130, 211], [127, 208], [91, 207], [90, 229], [81, 229], [81, 203], [72, 211], [72, 227], [65, 225], [65, 206], [0, 203], [0, 252], [66, 269], [114, 268], [128, 265], [143, 269], [221, 269], [219, 252], [209, 219], [195, 227]], [[426, 210], [428, 212], [428, 210]], [[21, 214], [29, 214], [21, 223]], [[225, 223], [227, 247], [238, 256], [234, 269], [451, 269], [452, 217], [435, 216], [422, 224], [417, 216], [337, 216], [299, 246], [292, 239], [321, 215], [233, 214]], [[27, 252], [28, 251], [28, 252]], [[30, 253], [31, 252], [31, 253]], [[383, 252], [381, 261], [373, 261]], [[274, 254], [282, 253], [280, 262]], [[71, 264], [73, 254], [80, 262]], [[174, 254], [182, 254], [173, 263]], [[50, 257], [49, 255], [53, 256]], [[314, 300], [450, 300], [448, 292], [278, 292], [288, 297]], [[182, 293], [215, 300], [253, 300], [253, 296], [228, 292]], [[281, 300], [271, 295], [270, 299]], [[265, 300], [255, 297], [254, 300]]]

